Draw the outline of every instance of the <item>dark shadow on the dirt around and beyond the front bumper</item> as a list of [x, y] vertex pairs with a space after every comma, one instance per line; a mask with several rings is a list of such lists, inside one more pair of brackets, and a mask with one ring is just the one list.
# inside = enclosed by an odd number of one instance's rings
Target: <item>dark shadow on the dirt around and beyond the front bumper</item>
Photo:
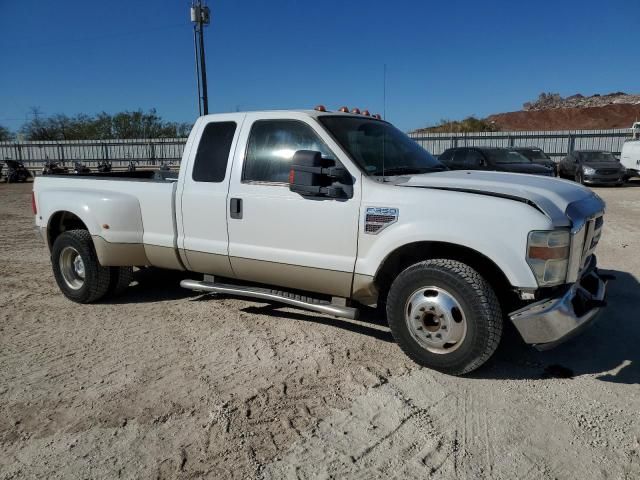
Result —
[[627, 272], [607, 286], [607, 307], [581, 335], [553, 350], [538, 352], [507, 325], [493, 361], [470, 378], [540, 379], [596, 374], [598, 380], [640, 384], [640, 284]]

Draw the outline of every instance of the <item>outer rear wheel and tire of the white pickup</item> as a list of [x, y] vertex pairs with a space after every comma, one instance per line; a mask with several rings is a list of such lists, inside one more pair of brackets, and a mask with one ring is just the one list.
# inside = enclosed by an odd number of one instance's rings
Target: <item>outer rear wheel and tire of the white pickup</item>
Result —
[[69, 300], [95, 302], [109, 289], [111, 270], [100, 265], [86, 230], [61, 233], [51, 249], [51, 264], [56, 283]]

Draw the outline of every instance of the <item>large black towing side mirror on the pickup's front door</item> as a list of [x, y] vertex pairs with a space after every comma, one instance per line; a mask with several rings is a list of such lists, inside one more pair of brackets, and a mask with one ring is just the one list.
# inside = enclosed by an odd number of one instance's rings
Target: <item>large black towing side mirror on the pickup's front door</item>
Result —
[[347, 171], [336, 167], [335, 160], [322, 158], [320, 152], [313, 150], [298, 150], [291, 161], [289, 190], [309, 197], [339, 198], [345, 191], [333, 183], [346, 176]]

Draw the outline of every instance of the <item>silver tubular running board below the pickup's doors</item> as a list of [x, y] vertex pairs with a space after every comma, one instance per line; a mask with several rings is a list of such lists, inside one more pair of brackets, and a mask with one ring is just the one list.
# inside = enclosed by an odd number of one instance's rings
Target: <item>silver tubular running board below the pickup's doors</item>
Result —
[[201, 282], [198, 280], [182, 280], [180, 286], [196, 292], [223, 293], [239, 297], [259, 298], [270, 302], [286, 303], [287, 305], [305, 310], [326, 313], [327, 315], [333, 315], [335, 317], [350, 318], [352, 320], [357, 319], [359, 313], [357, 308], [335, 305], [326, 300], [318, 300], [313, 297], [305, 297], [304, 295], [269, 288], [243, 287], [241, 285]]

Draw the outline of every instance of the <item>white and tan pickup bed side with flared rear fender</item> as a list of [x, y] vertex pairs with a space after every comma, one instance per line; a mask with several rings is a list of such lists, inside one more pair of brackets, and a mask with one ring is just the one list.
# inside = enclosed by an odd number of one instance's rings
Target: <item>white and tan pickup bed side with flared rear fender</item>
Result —
[[102, 250], [137, 246], [146, 255], [141, 265], [180, 269], [175, 255], [176, 174], [140, 170], [38, 176], [33, 185], [36, 225], [52, 228], [50, 220], [68, 212]]

